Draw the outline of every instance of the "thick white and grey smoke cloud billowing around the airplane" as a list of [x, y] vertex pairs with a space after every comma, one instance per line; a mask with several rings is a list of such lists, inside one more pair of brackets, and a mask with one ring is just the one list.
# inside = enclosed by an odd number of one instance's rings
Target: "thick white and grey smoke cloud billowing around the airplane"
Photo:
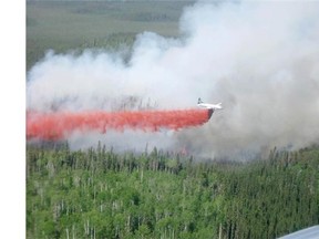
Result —
[[318, 143], [318, 2], [198, 2], [179, 25], [178, 39], [137, 35], [128, 62], [121, 52], [49, 52], [28, 73], [28, 110], [189, 108], [199, 96], [225, 108], [204, 126], [169, 134], [73, 135], [74, 148], [100, 139], [119, 150], [148, 145], [247, 158]]

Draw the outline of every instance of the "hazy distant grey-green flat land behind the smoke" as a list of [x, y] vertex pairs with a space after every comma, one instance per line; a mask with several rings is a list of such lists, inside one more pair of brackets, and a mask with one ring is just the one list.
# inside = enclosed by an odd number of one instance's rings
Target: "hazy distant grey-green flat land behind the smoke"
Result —
[[192, 1], [27, 2], [27, 70], [55, 52], [132, 45], [144, 31], [178, 35], [178, 19]]

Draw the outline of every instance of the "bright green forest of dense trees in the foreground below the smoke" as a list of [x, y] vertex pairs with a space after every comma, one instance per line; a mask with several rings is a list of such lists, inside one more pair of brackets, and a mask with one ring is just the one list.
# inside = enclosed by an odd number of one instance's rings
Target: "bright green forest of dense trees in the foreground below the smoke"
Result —
[[319, 221], [319, 147], [250, 163], [27, 147], [27, 238], [276, 238]]

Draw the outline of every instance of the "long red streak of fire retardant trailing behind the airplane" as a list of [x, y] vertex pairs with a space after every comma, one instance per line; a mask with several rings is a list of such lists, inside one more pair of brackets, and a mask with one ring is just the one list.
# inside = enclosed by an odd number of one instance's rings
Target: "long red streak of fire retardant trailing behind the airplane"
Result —
[[206, 123], [212, 110], [178, 111], [122, 111], [122, 112], [54, 112], [27, 113], [27, 138], [63, 139], [73, 132], [109, 129], [123, 132], [126, 128], [156, 132], [161, 128], [181, 129]]

